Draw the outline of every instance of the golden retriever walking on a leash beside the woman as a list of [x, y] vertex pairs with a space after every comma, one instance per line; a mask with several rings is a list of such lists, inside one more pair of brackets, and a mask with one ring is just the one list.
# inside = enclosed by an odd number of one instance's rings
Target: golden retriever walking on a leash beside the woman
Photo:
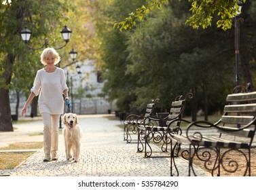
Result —
[[[81, 136], [82, 131], [78, 124], [77, 115], [75, 113], [65, 113], [63, 117], [65, 128], [63, 130], [65, 151], [67, 159], [75, 159], [78, 161], [81, 152]], [[73, 155], [71, 155], [71, 151]]]

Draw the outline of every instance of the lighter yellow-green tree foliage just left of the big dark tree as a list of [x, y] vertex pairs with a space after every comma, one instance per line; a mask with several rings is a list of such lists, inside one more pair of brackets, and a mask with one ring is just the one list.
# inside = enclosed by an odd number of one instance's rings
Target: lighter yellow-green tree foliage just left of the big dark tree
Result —
[[[100, 1], [97, 15], [100, 18], [96, 22], [96, 31], [100, 39], [100, 61], [99, 69], [103, 70], [105, 86], [103, 91], [109, 101], [117, 99], [117, 106], [122, 110], [128, 110], [135, 94], [132, 90], [136, 78], [126, 74], [126, 67], [130, 64], [128, 52], [126, 52], [126, 41], [129, 33], [120, 33], [112, 27], [111, 20], [124, 18], [134, 7], [141, 5], [144, 1]], [[128, 8], [129, 7], [129, 8]]]

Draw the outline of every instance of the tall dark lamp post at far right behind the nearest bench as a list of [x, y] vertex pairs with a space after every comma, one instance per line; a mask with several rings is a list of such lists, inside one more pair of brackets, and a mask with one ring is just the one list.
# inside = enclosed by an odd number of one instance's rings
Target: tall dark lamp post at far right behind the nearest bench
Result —
[[242, 1], [237, 1], [239, 6], [239, 12], [237, 12], [236, 16], [234, 16], [234, 33], [235, 33], [235, 55], [236, 55], [236, 86], [240, 84], [240, 73], [239, 73], [239, 48], [240, 48], [240, 22], [243, 22], [243, 19], [240, 18], [240, 12], [242, 10]]

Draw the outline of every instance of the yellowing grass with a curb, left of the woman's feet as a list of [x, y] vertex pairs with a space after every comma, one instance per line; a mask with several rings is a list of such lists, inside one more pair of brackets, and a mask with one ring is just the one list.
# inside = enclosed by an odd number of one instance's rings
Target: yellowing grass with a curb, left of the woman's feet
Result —
[[[0, 150], [23, 150], [23, 149], [41, 149], [43, 142], [16, 142], [8, 145], [7, 147], [0, 147]], [[33, 155], [34, 152], [27, 153], [13, 153], [3, 152], [0, 153], [0, 170], [14, 169], [16, 166]]]

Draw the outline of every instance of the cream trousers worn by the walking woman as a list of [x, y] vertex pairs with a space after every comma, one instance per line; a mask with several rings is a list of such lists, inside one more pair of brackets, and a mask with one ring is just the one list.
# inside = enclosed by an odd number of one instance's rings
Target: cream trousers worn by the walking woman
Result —
[[41, 113], [43, 119], [43, 152], [50, 158], [55, 157], [58, 151], [58, 128], [60, 115]]

